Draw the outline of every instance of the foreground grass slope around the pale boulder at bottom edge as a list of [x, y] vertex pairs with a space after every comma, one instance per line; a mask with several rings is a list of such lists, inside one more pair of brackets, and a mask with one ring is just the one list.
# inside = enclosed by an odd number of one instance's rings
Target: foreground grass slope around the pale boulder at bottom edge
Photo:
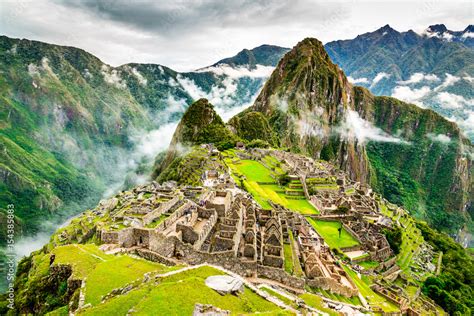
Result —
[[85, 315], [125, 315], [131, 308], [134, 315], [192, 315], [195, 303], [212, 304], [232, 314], [284, 313], [282, 309], [245, 288], [239, 296], [220, 295], [208, 288], [208, 276], [223, 274], [221, 271], [201, 267], [175, 274], [156, 284], [145, 284], [139, 289], [113, 298], [92, 309]]

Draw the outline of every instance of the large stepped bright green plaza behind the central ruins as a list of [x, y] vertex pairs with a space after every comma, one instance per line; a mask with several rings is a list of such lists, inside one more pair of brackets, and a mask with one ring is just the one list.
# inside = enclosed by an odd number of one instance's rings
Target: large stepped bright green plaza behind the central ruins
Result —
[[272, 201], [301, 214], [318, 213], [304, 196], [300, 181], [292, 180], [286, 186], [278, 185], [277, 179], [284, 171], [274, 157], [266, 156], [260, 162], [242, 160], [234, 150], [225, 151], [223, 155], [236, 183], [252, 194], [262, 208], [271, 209], [268, 201]]

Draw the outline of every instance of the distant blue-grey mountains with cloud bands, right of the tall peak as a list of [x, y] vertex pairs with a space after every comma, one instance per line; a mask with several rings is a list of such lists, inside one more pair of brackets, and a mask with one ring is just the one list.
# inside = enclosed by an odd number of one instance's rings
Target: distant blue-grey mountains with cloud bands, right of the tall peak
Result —
[[389, 25], [325, 48], [349, 80], [376, 95], [430, 108], [456, 121], [474, 139], [474, 49], [469, 25], [432, 25], [421, 34]]

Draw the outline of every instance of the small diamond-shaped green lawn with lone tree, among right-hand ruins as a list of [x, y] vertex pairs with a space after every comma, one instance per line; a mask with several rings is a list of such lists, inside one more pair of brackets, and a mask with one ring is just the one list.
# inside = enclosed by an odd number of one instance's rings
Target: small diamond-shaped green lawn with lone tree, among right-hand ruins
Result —
[[341, 237], [339, 237], [338, 229], [341, 227], [340, 222], [319, 221], [310, 217], [306, 218], [311, 226], [316, 229], [324, 241], [331, 248], [345, 248], [352, 247], [359, 244], [359, 242], [352, 237], [344, 228], [342, 228]]

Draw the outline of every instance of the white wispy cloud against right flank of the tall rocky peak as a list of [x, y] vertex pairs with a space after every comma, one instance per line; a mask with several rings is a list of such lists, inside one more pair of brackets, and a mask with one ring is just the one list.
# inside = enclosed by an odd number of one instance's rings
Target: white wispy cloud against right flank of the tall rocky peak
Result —
[[348, 110], [346, 112], [344, 123], [338, 128], [337, 132], [346, 138], [355, 137], [360, 143], [375, 141], [408, 144], [407, 141], [394, 137], [382, 129], [372, 125], [372, 123], [361, 118], [359, 113], [353, 110]]

